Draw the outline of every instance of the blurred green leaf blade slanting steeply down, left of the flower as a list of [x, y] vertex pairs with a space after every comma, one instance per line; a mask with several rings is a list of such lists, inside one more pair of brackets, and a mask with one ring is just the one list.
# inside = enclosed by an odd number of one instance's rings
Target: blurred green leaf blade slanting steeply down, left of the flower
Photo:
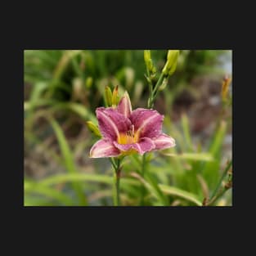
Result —
[[[50, 119], [50, 122], [52, 124], [54, 132], [56, 133], [56, 137], [61, 148], [61, 154], [64, 159], [65, 168], [69, 173], [77, 173], [77, 169], [75, 168], [74, 159], [70, 150], [70, 146], [65, 139], [65, 135], [61, 130], [60, 125], [56, 122], [56, 120], [52, 118]], [[72, 182], [71, 185], [79, 198], [80, 204], [87, 205], [86, 196], [83, 192], [83, 186], [81, 186], [81, 184], [77, 182]]]

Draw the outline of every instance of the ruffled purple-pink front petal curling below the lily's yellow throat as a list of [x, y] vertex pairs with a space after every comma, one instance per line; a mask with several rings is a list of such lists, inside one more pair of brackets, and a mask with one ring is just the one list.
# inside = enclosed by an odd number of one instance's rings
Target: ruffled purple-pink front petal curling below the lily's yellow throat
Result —
[[154, 142], [148, 137], [141, 137], [140, 141], [133, 144], [119, 144], [116, 141], [113, 142], [115, 147], [117, 147], [121, 151], [128, 151], [128, 150], [137, 150], [137, 152], [143, 155], [145, 152], [154, 150], [155, 144]]

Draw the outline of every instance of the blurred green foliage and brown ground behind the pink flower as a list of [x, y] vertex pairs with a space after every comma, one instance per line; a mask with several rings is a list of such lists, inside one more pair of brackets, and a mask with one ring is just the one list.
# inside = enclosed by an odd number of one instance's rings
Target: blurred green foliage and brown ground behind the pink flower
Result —
[[[146, 107], [149, 88], [143, 50], [25, 50], [24, 204], [113, 205], [108, 159], [90, 159], [106, 85], [128, 91], [133, 109]], [[158, 70], [167, 50], [152, 50]], [[177, 70], [159, 93], [155, 110], [177, 146], [148, 155], [146, 205], [201, 205], [218, 188], [231, 160], [231, 87], [222, 101], [222, 80], [231, 77], [231, 51], [182, 50]], [[141, 156], [124, 159], [121, 204], [140, 205]], [[229, 175], [231, 175], [229, 173]], [[226, 180], [227, 182], [227, 180]], [[146, 184], [146, 185], [145, 185]], [[212, 205], [231, 205], [231, 189]]]

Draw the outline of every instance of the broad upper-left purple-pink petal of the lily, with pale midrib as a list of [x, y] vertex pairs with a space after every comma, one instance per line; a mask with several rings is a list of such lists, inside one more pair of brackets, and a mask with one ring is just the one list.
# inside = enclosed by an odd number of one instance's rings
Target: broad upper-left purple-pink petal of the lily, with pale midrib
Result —
[[113, 108], [99, 107], [96, 115], [101, 134], [112, 141], [119, 137], [119, 132], [127, 132], [132, 125], [130, 119]]

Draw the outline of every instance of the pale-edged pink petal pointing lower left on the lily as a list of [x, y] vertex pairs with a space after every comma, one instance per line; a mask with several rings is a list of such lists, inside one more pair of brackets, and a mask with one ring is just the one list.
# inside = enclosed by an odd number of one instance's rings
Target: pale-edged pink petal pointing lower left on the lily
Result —
[[91, 158], [114, 157], [120, 155], [120, 151], [113, 145], [112, 141], [102, 139], [97, 141], [90, 150]]

